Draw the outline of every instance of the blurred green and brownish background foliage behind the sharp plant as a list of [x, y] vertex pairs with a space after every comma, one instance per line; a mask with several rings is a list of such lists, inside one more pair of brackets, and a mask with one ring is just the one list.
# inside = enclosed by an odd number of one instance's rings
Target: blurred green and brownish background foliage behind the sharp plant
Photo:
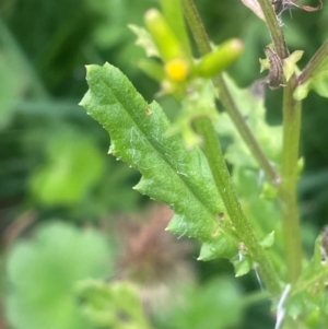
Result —
[[[215, 44], [229, 37], [245, 42], [244, 55], [230, 69], [236, 82], [247, 86], [262, 78], [258, 58], [269, 43], [263, 23], [239, 0], [196, 3]], [[142, 328], [119, 327], [129, 322], [124, 316], [116, 315], [118, 325], [84, 317], [74, 284], [115, 277], [142, 287], [147, 317], [155, 328], [273, 326], [269, 305], [249, 306], [244, 297], [258, 289], [254, 274], [236, 282], [226, 277], [233, 272], [225, 261], [200, 263], [197, 246], [176, 237], [162, 240], [169, 214], [160, 205], [149, 210], [149, 200], [131, 189], [139, 174], [107, 155], [107, 133], [78, 106], [86, 92], [84, 66], [105, 61], [153, 99], [159, 86], [138, 70], [136, 60], [144, 54], [127, 27], [142, 25], [151, 7], [159, 7], [157, 1], [0, 2], [1, 329]], [[328, 37], [328, 9], [293, 10], [283, 20], [290, 50], [305, 50], [303, 67]], [[168, 97], [160, 102], [168, 113], [176, 108]], [[281, 91], [268, 91], [272, 125], [281, 121], [280, 103]], [[305, 171], [300, 180], [309, 254], [328, 219], [327, 125], [327, 99], [311, 93], [304, 103]], [[152, 236], [160, 236], [161, 244]], [[150, 248], [159, 254], [149, 255]], [[176, 299], [173, 291], [190, 303], [183, 309], [162, 308], [160, 299], [166, 306]]]

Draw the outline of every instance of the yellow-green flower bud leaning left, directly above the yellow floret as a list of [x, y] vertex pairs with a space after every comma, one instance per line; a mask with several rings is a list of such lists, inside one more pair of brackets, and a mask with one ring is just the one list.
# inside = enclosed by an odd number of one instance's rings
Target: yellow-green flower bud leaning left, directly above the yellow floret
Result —
[[160, 11], [149, 10], [145, 13], [144, 22], [164, 61], [185, 57], [177, 37]]

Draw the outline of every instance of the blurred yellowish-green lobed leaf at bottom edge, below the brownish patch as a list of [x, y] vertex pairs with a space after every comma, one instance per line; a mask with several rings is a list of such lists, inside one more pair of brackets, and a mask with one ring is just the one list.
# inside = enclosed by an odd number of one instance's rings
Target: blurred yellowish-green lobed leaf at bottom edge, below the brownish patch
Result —
[[75, 291], [80, 307], [96, 327], [149, 328], [138, 291], [131, 283], [85, 280], [78, 283]]

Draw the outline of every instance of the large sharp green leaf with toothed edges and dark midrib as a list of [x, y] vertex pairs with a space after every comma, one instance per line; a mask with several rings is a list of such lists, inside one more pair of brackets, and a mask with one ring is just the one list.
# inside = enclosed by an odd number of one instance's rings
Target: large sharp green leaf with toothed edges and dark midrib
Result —
[[134, 188], [175, 211], [167, 230], [218, 238], [216, 215], [229, 219], [203, 153], [187, 151], [178, 134], [167, 137], [171, 124], [160, 105], [149, 105], [117, 68], [89, 66], [86, 80], [81, 105], [109, 132], [109, 153], [141, 172]]

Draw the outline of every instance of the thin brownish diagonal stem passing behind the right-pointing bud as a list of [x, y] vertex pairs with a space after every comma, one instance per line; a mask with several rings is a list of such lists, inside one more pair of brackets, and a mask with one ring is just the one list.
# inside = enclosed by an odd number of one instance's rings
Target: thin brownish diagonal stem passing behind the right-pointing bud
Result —
[[[183, 0], [183, 5], [185, 10], [185, 15], [187, 17], [188, 24], [192, 32], [194, 38], [196, 40], [197, 47], [201, 55], [206, 55], [212, 50], [209, 37], [206, 33], [201, 19], [198, 14], [197, 8], [192, 0]], [[237, 128], [239, 134], [248, 145], [250, 152], [263, 168], [267, 177], [276, 184], [279, 180], [279, 175], [276, 169], [270, 164], [268, 157], [263, 153], [262, 149], [258, 144], [254, 134], [251, 133], [249, 127], [245, 122], [241, 110], [238, 109], [236, 103], [234, 102], [226, 83], [221, 75], [213, 79], [214, 85], [220, 90], [220, 101], [223, 104], [225, 110]]]

